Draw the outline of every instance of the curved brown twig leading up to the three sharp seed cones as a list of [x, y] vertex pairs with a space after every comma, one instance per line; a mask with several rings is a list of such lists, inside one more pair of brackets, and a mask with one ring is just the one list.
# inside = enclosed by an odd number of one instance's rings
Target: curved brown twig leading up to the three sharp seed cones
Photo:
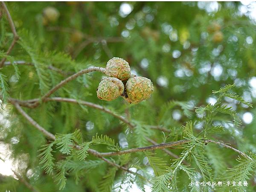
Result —
[[[45, 101], [45, 99], [47, 97], [49, 97], [50, 95], [52, 95], [52, 93], [54, 93], [56, 90], [58, 90], [59, 88], [61, 88], [62, 86], [64, 86], [65, 84], [67, 84], [69, 81], [72, 81], [73, 79], [76, 79], [77, 77], [85, 74], [85, 73], [90, 73], [93, 71], [99, 71], [104, 73], [105, 72], [105, 68], [102, 67], [89, 67], [87, 69], [81, 70], [78, 73], [73, 74], [72, 76], [69, 76], [67, 79], [62, 80], [59, 84], [55, 85], [55, 87], [53, 87], [51, 90], [49, 90], [48, 93], [46, 93], [44, 96], [42, 96], [41, 100], [42, 102]], [[40, 104], [40, 102], [35, 102], [33, 107], [37, 107]]]

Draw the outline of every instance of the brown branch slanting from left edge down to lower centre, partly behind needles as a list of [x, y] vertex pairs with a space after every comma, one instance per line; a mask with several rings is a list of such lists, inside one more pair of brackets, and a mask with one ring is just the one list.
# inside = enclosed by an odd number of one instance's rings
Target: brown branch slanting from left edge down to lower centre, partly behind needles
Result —
[[[45, 130], [43, 127], [41, 127], [41, 125], [39, 125], [37, 122], [35, 122], [34, 119], [32, 119], [32, 117], [30, 117], [25, 111], [23, 111], [23, 109], [20, 107], [19, 104], [17, 104], [17, 102], [12, 102], [12, 104], [15, 106], [15, 108], [20, 112], [20, 114], [25, 117], [25, 119], [27, 119], [35, 128], [37, 128], [39, 131], [41, 131], [45, 136], [47, 136], [49, 139], [51, 140], [55, 140], [56, 137], [55, 135], [53, 135], [52, 133], [50, 133], [49, 131]], [[80, 146], [79, 145], [75, 145], [75, 148], [76, 149], [80, 149]], [[132, 173], [134, 175], [138, 175], [138, 176], [141, 176], [140, 174], [137, 174], [136, 172], [131, 172], [129, 169], [123, 167], [123, 166], [120, 166], [116, 163], [113, 163], [112, 161], [104, 158], [101, 153], [99, 153], [98, 151], [96, 150], [93, 150], [93, 149], [89, 149], [87, 151], [88, 153], [96, 156], [96, 157], [99, 157], [100, 159], [104, 160], [106, 163], [112, 165], [112, 166], [116, 166], [117, 168], [119, 169], [122, 169], [126, 172], [129, 172], [129, 173]]]

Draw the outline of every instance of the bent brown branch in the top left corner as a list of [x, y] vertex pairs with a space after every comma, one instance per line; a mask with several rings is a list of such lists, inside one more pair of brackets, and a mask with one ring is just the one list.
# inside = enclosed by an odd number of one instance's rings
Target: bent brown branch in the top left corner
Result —
[[[7, 52], [6, 52], [6, 54], [9, 55], [10, 52], [12, 51], [12, 49], [13, 49], [15, 43], [16, 43], [17, 40], [19, 39], [19, 36], [18, 36], [18, 34], [17, 34], [17, 32], [16, 32], [15, 25], [14, 25], [14, 23], [13, 23], [13, 20], [12, 20], [12, 17], [11, 17], [11, 15], [10, 15], [10, 13], [9, 13], [9, 10], [8, 10], [7, 7], [6, 7], [6, 4], [5, 4], [3, 1], [2, 1], [1, 3], [2, 3], [2, 6], [3, 6], [4, 11], [6, 12], [7, 19], [8, 19], [8, 21], [9, 21], [9, 24], [10, 24], [10, 26], [11, 26], [12, 33], [13, 33], [12, 44], [10, 45], [9, 49], [8, 49]], [[0, 68], [3, 67], [4, 61], [6, 61], [6, 57], [3, 58], [3, 59], [0, 61]]]

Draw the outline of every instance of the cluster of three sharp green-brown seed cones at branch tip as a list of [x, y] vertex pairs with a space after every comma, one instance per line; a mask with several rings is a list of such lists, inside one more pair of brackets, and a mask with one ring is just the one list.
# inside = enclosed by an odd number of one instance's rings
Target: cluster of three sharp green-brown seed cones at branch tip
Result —
[[114, 57], [107, 63], [103, 79], [97, 88], [99, 99], [112, 101], [122, 96], [129, 103], [138, 103], [151, 96], [154, 91], [150, 79], [131, 74], [127, 61]]

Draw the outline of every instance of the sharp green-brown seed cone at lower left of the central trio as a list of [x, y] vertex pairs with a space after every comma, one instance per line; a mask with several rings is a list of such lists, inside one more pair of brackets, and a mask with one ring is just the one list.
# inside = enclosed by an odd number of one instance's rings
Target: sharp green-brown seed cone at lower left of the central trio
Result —
[[119, 79], [108, 77], [99, 83], [97, 96], [105, 101], [112, 101], [124, 92], [124, 84]]

